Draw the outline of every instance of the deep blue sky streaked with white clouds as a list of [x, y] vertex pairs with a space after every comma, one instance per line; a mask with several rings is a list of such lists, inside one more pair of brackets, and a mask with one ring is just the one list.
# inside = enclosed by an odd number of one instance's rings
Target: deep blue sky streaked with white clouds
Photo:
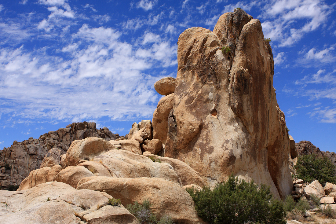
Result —
[[321, 0], [0, 0], [0, 147], [81, 121], [127, 134], [176, 77], [179, 34], [237, 7], [271, 38], [290, 135], [336, 152], [336, 3]]

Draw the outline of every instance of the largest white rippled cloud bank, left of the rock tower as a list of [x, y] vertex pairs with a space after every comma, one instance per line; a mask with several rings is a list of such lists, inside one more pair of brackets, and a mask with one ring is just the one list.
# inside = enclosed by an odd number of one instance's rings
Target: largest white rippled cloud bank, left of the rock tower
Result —
[[6, 99], [2, 112], [11, 115], [11, 122], [18, 117], [151, 117], [158, 78], [146, 70], [176, 65], [177, 46], [154, 33], [138, 38], [136, 46], [121, 41], [121, 35], [112, 28], [84, 24], [59, 49], [67, 59], [41, 49], [28, 52], [24, 46], [0, 49], [0, 95]]

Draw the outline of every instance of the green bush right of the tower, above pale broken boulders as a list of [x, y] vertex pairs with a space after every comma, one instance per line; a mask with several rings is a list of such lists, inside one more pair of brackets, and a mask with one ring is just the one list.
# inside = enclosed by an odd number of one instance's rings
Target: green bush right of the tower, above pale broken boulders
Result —
[[327, 158], [316, 154], [299, 156], [294, 166], [296, 176], [305, 182], [318, 180], [323, 186], [327, 183], [336, 184], [335, 165]]

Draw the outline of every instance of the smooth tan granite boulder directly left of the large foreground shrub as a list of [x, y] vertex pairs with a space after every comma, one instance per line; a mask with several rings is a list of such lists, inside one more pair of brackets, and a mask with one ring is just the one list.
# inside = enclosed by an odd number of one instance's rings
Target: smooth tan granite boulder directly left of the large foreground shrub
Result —
[[106, 178], [91, 177], [77, 189], [103, 191], [120, 198], [124, 206], [134, 201], [149, 199], [152, 211], [159, 217], [171, 216], [176, 223], [204, 223], [194, 208], [191, 196], [179, 185], [161, 178]]

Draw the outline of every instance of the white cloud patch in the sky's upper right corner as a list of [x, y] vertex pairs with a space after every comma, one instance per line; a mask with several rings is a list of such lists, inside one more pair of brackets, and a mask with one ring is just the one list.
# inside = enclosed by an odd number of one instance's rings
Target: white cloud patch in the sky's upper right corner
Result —
[[[265, 37], [290, 46], [305, 34], [316, 30], [328, 21], [332, 7], [320, 0], [277, 0], [264, 6], [262, 23]], [[297, 20], [306, 20], [298, 23]]]

